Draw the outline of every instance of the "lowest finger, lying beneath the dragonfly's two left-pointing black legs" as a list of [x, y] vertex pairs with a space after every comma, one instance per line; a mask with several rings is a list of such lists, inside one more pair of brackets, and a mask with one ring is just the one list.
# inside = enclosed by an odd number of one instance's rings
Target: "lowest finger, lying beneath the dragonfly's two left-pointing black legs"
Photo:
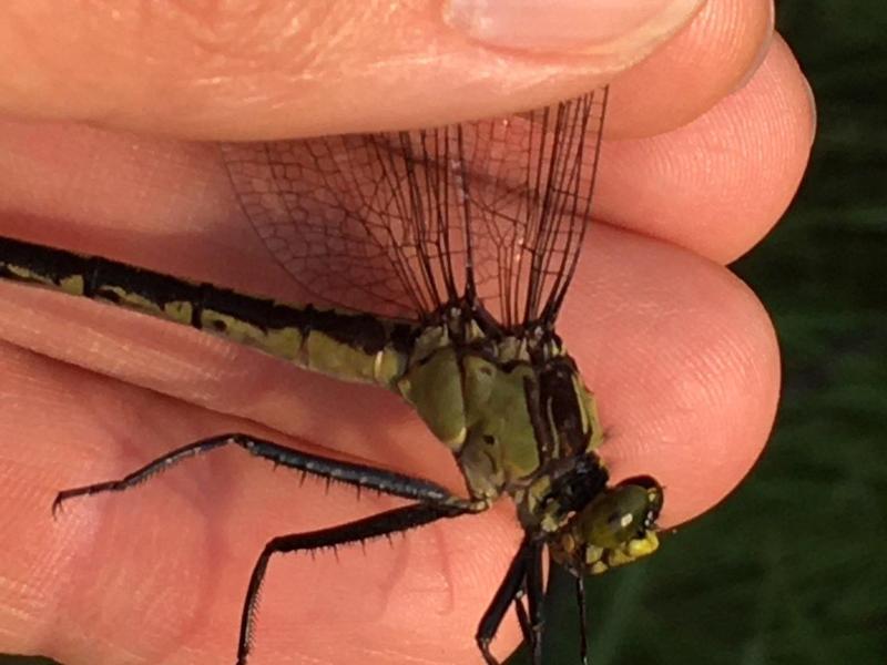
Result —
[[[10, 582], [0, 592], [3, 652], [68, 665], [233, 662], [249, 573], [271, 538], [397, 505], [373, 493], [358, 501], [323, 482], [300, 485], [297, 473], [217, 451], [132, 492], [71, 501], [53, 519], [61, 488], [119, 477], [185, 441], [257, 427], [8, 345], [0, 368], [0, 390], [17, 396], [4, 400], [0, 421], [0, 508], [8, 518], [0, 565]], [[328, 424], [335, 436], [335, 421]], [[367, 543], [365, 552], [273, 559], [254, 659], [381, 665], [446, 654], [453, 665], [475, 662], [475, 624], [492, 576], [517, 548], [507, 508], [467, 531], [459, 520], [390, 545]], [[516, 643], [507, 626], [498, 646]]]

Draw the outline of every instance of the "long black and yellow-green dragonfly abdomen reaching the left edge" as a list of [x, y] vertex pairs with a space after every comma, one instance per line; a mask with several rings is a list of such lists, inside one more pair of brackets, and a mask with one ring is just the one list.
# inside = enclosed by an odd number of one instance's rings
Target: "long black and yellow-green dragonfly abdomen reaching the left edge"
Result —
[[0, 277], [205, 330], [349, 381], [391, 388], [414, 327], [356, 311], [284, 305], [123, 263], [0, 238]]

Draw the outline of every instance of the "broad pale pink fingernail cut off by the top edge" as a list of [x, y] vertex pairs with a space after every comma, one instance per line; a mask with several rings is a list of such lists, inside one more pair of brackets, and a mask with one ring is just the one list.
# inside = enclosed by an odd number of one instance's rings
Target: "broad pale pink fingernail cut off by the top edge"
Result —
[[703, 1], [448, 0], [443, 18], [491, 47], [575, 51], [619, 42], [631, 50], [676, 31]]

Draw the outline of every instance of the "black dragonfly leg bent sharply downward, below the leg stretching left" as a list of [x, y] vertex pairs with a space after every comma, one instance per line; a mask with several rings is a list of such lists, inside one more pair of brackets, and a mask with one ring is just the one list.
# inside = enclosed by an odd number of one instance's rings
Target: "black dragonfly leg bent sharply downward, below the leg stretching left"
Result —
[[246, 598], [241, 617], [241, 634], [237, 642], [237, 665], [246, 665], [249, 646], [255, 630], [256, 602], [262, 581], [268, 567], [268, 561], [275, 554], [290, 552], [335, 549], [339, 545], [361, 543], [409, 529], [416, 529], [445, 518], [458, 518], [473, 512], [469, 505], [429, 505], [414, 503], [404, 508], [389, 510], [363, 520], [348, 522], [338, 526], [320, 529], [308, 533], [292, 533], [272, 539], [265, 545], [249, 577]]

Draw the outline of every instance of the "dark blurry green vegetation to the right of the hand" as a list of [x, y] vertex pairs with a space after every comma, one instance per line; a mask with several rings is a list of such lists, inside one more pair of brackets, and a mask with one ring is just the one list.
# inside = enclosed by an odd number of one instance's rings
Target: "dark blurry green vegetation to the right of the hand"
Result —
[[[819, 133], [791, 212], [734, 266], [779, 332], [776, 431], [722, 507], [588, 585], [593, 665], [887, 663], [885, 13], [880, 0], [779, 7]], [[577, 665], [571, 587], [553, 586], [546, 663]]]

